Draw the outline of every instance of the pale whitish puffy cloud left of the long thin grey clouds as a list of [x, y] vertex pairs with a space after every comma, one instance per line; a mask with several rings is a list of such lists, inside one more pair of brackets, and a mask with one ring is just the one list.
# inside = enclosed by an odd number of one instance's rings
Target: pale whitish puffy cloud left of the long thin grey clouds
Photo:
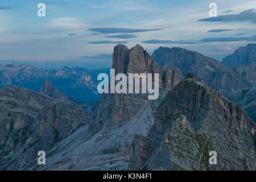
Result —
[[76, 18], [64, 17], [64, 18], [53, 18], [50, 19], [50, 23], [47, 27], [54, 28], [57, 30], [69, 30], [77, 28], [85, 28], [85, 24]]

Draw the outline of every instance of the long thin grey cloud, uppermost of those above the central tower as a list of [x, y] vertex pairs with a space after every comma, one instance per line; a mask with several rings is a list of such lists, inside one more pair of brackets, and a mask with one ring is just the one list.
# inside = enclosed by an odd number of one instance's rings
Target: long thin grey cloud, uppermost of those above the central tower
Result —
[[115, 33], [135, 33], [135, 32], [147, 32], [157, 31], [162, 29], [131, 29], [131, 28], [90, 28], [87, 31], [98, 32], [100, 34], [115, 34]]

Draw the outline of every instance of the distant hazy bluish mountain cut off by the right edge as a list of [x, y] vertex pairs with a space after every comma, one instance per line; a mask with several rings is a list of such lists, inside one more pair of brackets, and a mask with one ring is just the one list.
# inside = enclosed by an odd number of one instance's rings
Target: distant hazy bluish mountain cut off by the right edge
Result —
[[238, 65], [247, 65], [256, 59], [256, 44], [248, 44], [245, 47], [239, 47], [233, 55], [226, 56], [222, 64], [227, 67], [236, 67]]

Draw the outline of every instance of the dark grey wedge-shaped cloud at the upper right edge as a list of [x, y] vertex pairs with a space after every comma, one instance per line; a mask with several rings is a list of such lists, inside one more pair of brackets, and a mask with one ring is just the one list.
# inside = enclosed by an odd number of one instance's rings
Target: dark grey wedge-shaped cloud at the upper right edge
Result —
[[200, 22], [252, 22], [256, 23], [256, 11], [254, 9], [243, 11], [237, 15], [222, 15], [211, 18], [199, 19]]

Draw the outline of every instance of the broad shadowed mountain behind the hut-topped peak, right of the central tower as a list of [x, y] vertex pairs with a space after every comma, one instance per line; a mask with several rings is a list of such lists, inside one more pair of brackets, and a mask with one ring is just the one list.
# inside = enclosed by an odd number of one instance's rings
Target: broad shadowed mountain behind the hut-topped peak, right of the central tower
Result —
[[242, 90], [253, 85], [247, 78], [241, 77], [219, 61], [198, 52], [183, 48], [160, 47], [154, 51], [152, 57], [161, 66], [179, 68], [184, 77], [186, 73], [195, 73], [207, 86], [222, 93], [231, 101], [237, 101], [242, 95]]

